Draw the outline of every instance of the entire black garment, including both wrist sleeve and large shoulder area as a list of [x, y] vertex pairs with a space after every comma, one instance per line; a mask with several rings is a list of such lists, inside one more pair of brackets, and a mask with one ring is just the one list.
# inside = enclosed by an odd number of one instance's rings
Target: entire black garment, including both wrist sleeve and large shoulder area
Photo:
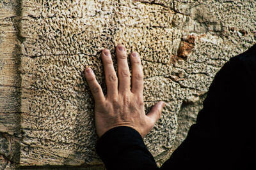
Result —
[[[160, 169], [256, 169], [256, 45], [212, 81], [187, 138]], [[140, 134], [115, 127], [97, 142], [107, 169], [159, 169]]]

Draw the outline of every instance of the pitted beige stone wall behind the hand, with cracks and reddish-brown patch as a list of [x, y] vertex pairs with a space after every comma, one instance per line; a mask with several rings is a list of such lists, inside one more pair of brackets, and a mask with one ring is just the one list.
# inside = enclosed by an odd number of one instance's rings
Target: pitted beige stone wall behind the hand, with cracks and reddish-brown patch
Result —
[[[255, 1], [0, 0], [0, 169], [102, 165], [83, 69], [106, 91], [99, 53], [140, 53], [145, 138], [161, 165], [186, 137], [216, 72], [256, 42]], [[98, 165], [96, 167], [96, 165]], [[93, 168], [93, 167], [92, 167]]]

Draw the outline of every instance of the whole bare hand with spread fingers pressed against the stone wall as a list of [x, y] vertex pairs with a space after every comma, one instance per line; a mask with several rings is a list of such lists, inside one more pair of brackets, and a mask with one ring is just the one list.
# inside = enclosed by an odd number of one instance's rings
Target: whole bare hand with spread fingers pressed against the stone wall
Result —
[[95, 100], [95, 125], [98, 136], [118, 126], [132, 127], [142, 137], [154, 127], [161, 116], [164, 102], [157, 103], [145, 115], [143, 105], [143, 71], [138, 53], [132, 52], [132, 88], [127, 53], [123, 45], [116, 46], [118, 78], [113, 67], [109, 50], [101, 53], [108, 94], [105, 97], [92, 69], [84, 71], [86, 80]]

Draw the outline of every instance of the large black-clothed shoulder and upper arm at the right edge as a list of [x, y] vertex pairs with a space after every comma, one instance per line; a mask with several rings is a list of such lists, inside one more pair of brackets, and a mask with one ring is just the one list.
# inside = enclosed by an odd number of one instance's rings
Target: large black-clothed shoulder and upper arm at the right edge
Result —
[[256, 45], [212, 81], [196, 124], [161, 169], [256, 169]]

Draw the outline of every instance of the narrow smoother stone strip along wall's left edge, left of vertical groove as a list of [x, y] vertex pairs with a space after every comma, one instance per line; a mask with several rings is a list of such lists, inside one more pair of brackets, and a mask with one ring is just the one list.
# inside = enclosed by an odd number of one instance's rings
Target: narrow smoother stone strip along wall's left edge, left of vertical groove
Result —
[[[7, 22], [3, 20], [3, 39], [0, 41], [0, 169], [14, 169], [20, 162], [20, 17], [22, 14], [21, 1], [0, 2], [0, 7], [6, 10]], [[3, 10], [3, 11], [4, 11]], [[10, 16], [9, 16], [10, 15]], [[6, 25], [4, 25], [6, 24]], [[1, 25], [1, 24], [0, 24]], [[5, 39], [4, 39], [5, 38]], [[3, 43], [1, 45], [1, 43]]]

